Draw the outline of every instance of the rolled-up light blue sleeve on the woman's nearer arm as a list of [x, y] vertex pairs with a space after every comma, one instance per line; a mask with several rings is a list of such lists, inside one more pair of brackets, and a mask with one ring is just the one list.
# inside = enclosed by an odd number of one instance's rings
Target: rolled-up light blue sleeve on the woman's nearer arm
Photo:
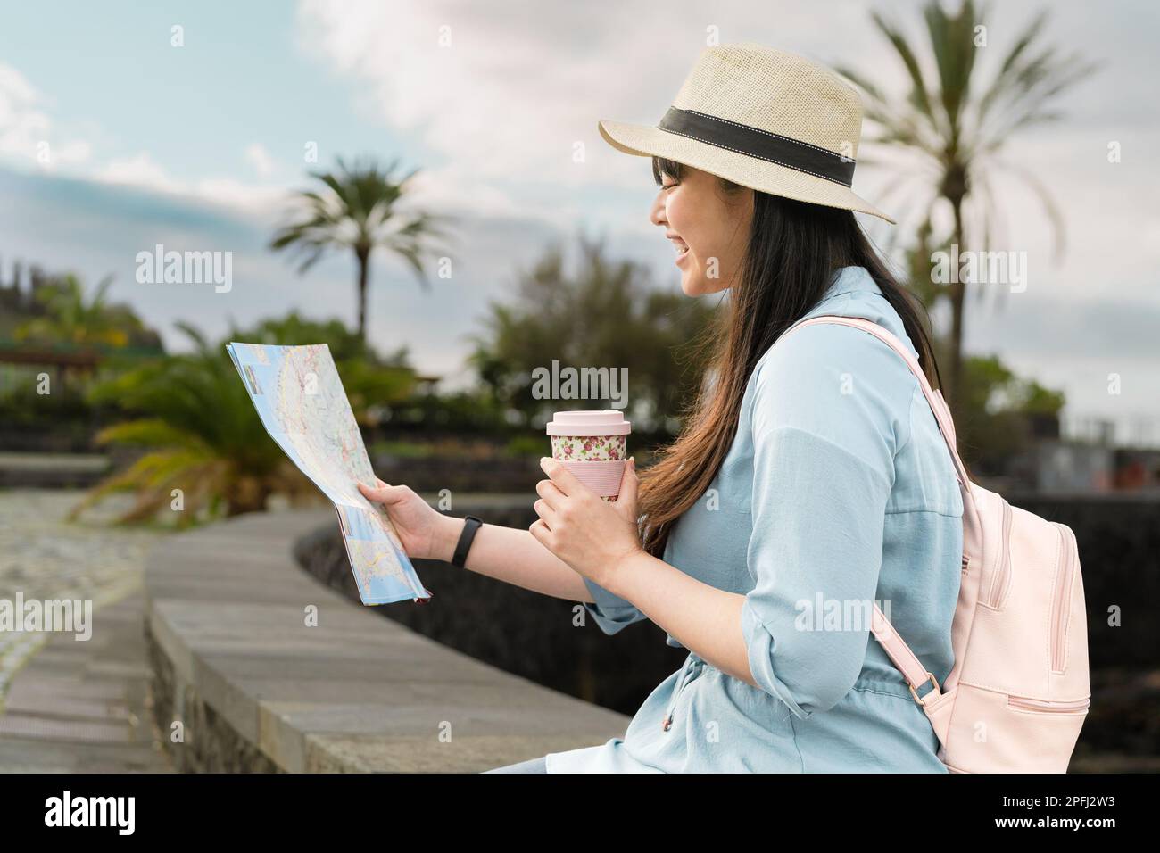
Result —
[[755, 682], [800, 718], [841, 700], [865, 659], [909, 376], [865, 332], [809, 326], [752, 379], [755, 585], [741, 629]]

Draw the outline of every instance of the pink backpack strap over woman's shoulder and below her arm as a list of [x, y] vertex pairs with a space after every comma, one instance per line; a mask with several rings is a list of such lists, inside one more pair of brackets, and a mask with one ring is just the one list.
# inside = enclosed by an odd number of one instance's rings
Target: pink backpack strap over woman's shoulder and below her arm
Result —
[[[922, 396], [927, 398], [927, 403], [930, 405], [930, 411], [934, 412], [935, 421], [938, 424], [938, 432], [942, 433], [943, 441], [947, 442], [947, 449], [950, 450], [951, 462], [955, 467], [955, 476], [958, 478], [959, 491], [963, 494], [963, 563], [966, 565], [973, 555], [981, 552], [979, 548], [981, 544], [979, 511], [974, 504], [974, 494], [971, 492], [971, 480], [966, 475], [966, 467], [963, 464], [963, 460], [959, 458], [958, 455], [958, 447], [955, 440], [955, 421], [951, 418], [950, 409], [947, 406], [947, 400], [943, 399], [942, 391], [936, 391], [930, 388], [930, 383], [927, 381], [927, 375], [922, 373], [922, 367], [919, 364], [918, 360], [894, 334], [883, 328], [877, 323], [862, 317], [818, 315], [793, 324], [782, 333], [778, 340], [784, 338], [795, 328], [820, 324], [851, 326], [853, 328], [861, 328], [863, 332], [869, 332], [898, 353], [902, 361], [906, 362], [906, 366], [911, 369], [911, 373], [914, 374], [915, 378], [918, 378], [919, 386], [922, 388]], [[906, 641], [904, 641], [902, 637], [899, 636], [898, 631], [894, 630], [894, 627], [890, 623], [877, 603], [873, 607], [870, 630], [873, 634], [875, 639], [882, 644], [883, 651], [886, 652], [886, 657], [893, 662], [894, 666], [897, 666], [906, 678], [906, 681], [911, 687], [911, 695], [914, 696], [914, 701], [919, 704], [926, 704], [927, 701], [934, 701], [941, 695], [941, 688], [937, 679], [919, 662], [919, 658], [913, 651], [911, 651]], [[934, 685], [934, 689], [920, 697], [915, 691], [928, 680]]]

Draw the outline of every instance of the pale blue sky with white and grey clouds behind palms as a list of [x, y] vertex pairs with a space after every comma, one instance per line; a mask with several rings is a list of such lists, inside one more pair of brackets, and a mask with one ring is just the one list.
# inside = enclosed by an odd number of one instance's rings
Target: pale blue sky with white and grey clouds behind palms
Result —
[[[869, 27], [886, 8], [918, 34], [918, 5], [776, 2], [5, 3], [0, 28], [0, 275], [14, 259], [113, 274], [173, 347], [173, 323], [211, 335], [297, 308], [353, 323], [353, 261], [299, 276], [266, 250], [289, 190], [319, 165], [374, 153], [421, 167], [415, 203], [458, 217], [454, 275], [425, 292], [397, 261], [372, 273], [371, 337], [418, 367], [465, 377], [466, 335], [487, 302], [552, 241], [604, 237], [676, 288], [670, 248], [646, 214], [647, 160], [604, 145], [597, 118], [654, 123], [708, 35], [901, 75]], [[1008, 0], [988, 24], [984, 70], [1042, 3]], [[1058, 124], [1013, 138], [1005, 159], [1045, 183], [1066, 225], [1056, 262], [1036, 198], [993, 189], [993, 248], [1024, 252], [1028, 285], [979, 290], [967, 349], [999, 353], [1066, 391], [1072, 418], [1110, 418], [1160, 440], [1160, 144], [1155, 3], [1054, 2], [1044, 36], [1102, 65], [1061, 102]], [[175, 30], [174, 28], [180, 28]], [[182, 44], [175, 32], [180, 35]], [[986, 52], [989, 51], [989, 52]], [[1109, 162], [1117, 143], [1119, 162]], [[580, 150], [582, 157], [577, 157]], [[863, 164], [855, 189], [907, 217], [913, 193], [879, 195], [891, 169]], [[867, 221], [884, 246], [908, 231]], [[894, 229], [899, 231], [899, 229]], [[230, 251], [233, 288], [140, 284], [136, 255]], [[993, 292], [993, 291], [992, 291]], [[1117, 374], [1121, 393], [1108, 392]]]

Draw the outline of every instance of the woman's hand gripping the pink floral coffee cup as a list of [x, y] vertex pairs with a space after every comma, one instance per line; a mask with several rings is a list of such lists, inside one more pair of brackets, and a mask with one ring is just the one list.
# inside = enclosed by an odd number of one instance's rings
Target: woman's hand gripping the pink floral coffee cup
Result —
[[531, 535], [593, 583], [609, 588], [617, 565], [643, 552], [637, 528], [637, 467], [630, 458], [615, 501], [601, 500], [551, 457], [539, 461], [549, 479], [536, 484], [539, 520]]

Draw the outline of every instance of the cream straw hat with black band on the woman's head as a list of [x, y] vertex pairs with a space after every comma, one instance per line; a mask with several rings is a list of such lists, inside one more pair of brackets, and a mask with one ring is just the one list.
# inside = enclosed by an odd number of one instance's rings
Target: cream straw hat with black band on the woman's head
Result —
[[600, 133], [626, 154], [894, 222], [850, 189], [862, 100], [793, 53], [748, 43], [705, 48], [655, 128], [602, 120]]

